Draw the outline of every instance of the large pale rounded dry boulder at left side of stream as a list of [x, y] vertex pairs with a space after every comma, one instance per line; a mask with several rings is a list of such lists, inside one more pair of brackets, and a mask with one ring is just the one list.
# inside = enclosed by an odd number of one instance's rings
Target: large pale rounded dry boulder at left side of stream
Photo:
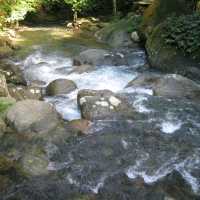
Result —
[[18, 133], [48, 133], [59, 124], [59, 115], [48, 103], [37, 100], [17, 102], [7, 113], [7, 122]]

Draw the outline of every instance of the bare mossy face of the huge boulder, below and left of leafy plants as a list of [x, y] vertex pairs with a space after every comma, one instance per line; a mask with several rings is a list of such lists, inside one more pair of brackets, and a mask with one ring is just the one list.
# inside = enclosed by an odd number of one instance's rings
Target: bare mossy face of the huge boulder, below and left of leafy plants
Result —
[[164, 26], [164, 23], [156, 26], [146, 42], [151, 66], [163, 72], [178, 73], [193, 80], [200, 80], [200, 56], [193, 59], [175, 46], [167, 45], [162, 38]]

